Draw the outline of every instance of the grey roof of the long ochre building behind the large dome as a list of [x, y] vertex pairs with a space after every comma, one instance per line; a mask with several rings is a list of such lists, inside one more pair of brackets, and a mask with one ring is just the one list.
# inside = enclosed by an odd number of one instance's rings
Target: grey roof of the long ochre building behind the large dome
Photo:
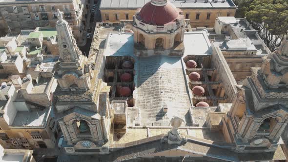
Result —
[[[142, 8], [150, 0], [102, 0], [100, 9], [137, 9]], [[177, 8], [235, 8], [232, 0], [170, 0]]]

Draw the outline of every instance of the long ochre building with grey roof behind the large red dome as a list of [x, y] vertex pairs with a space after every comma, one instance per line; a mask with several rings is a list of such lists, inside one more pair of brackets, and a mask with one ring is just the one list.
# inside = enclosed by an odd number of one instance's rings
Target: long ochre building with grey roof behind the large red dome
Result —
[[[144, 4], [150, 0], [102, 0], [100, 5], [103, 22], [117, 23], [132, 20]], [[236, 6], [232, 0], [170, 0], [179, 8], [192, 27], [213, 27], [217, 17], [235, 16]], [[149, 4], [148, 4], [149, 5]], [[151, 14], [157, 10], [151, 8]], [[155, 15], [156, 16], [156, 15]]]

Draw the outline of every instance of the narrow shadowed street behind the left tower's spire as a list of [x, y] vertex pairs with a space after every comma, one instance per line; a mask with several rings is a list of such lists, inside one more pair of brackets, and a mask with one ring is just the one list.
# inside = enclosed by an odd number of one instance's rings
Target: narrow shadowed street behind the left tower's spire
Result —
[[[96, 3], [97, 1], [97, 3]], [[95, 27], [96, 27], [96, 23], [97, 22], [101, 22], [101, 14], [100, 14], [100, 3], [101, 3], [101, 0], [90, 0], [90, 16], [92, 14], [92, 8], [93, 8], [93, 5], [94, 3], [96, 4], [96, 8], [95, 8], [95, 11], [94, 11], [94, 18], [93, 18], [93, 22], [90, 22], [90, 19], [87, 19], [86, 22], [89, 21], [89, 27], [87, 27], [87, 30], [91, 27], [92, 30], [91, 30], [91, 38], [87, 39], [87, 42], [84, 46], [80, 47], [80, 50], [82, 51], [83, 55], [85, 56], [88, 56], [89, 55], [89, 50], [90, 50], [90, 46], [91, 46], [91, 43], [92, 43], [92, 37], [93, 37], [93, 33], [95, 31]], [[90, 18], [90, 16], [88, 18]]]

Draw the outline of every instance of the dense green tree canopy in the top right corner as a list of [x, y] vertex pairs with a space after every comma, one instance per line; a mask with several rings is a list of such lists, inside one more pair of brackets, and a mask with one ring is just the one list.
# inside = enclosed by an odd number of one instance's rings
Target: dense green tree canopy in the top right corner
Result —
[[288, 0], [254, 0], [246, 18], [274, 51], [288, 32]]

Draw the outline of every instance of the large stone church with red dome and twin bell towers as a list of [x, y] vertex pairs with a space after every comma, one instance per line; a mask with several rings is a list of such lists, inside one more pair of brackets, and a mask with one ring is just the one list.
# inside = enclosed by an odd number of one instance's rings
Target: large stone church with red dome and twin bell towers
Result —
[[231, 50], [229, 41], [238, 43], [233, 39], [248, 39], [215, 25], [226, 38], [221, 48], [207, 30], [184, 32], [185, 18], [173, 3], [144, 6], [124, 32], [106, 25], [96, 32], [105, 45], [98, 42], [99, 51], [91, 48], [88, 58], [59, 13], [54, 112], [65, 152], [58, 161], [286, 160], [281, 134], [288, 123], [288, 41], [237, 82], [225, 49]]

